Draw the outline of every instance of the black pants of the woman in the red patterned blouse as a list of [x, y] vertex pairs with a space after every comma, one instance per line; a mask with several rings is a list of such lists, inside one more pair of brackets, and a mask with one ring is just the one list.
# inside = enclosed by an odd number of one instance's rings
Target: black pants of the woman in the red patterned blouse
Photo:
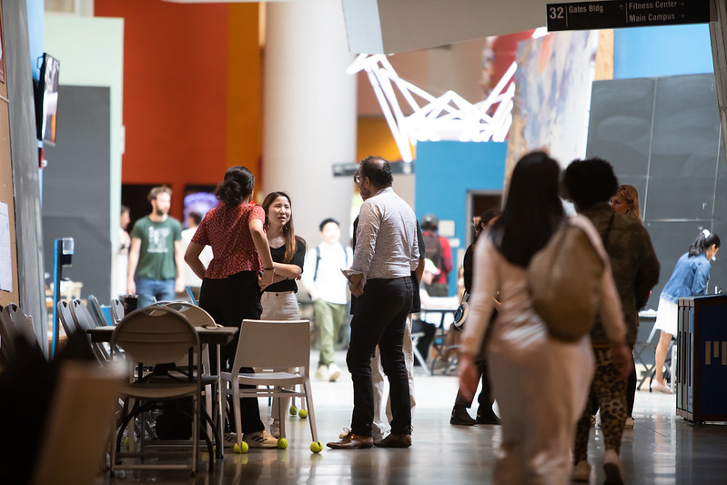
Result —
[[[202, 288], [199, 290], [199, 306], [205, 309], [215, 322], [225, 327], [240, 328], [245, 318], [259, 319], [262, 313], [260, 305], [260, 288], [257, 286], [257, 273], [255, 271], [241, 271], [225, 279], [205, 278], [202, 280]], [[222, 348], [222, 367], [230, 370], [232, 361], [237, 352], [237, 340], [235, 338]], [[216, 353], [210, 349], [214, 357]], [[217, 359], [214, 359], [217, 362]], [[232, 369], [239, 372], [240, 369]], [[242, 368], [242, 372], [252, 372], [253, 369]], [[247, 386], [252, 388], [253, 386]], [[265, 429], [260, 419], [260, 409], [257, 406], [257, 399], [240, 399], [240, 416], [243, 433], [252, 433]], [[230, 418], [230, 422], [232, 419]]]

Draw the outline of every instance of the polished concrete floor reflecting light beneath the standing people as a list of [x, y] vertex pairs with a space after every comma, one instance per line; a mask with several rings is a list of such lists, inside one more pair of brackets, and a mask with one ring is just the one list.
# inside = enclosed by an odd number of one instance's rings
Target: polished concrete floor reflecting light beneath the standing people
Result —
[[[318, 358], [318, 355], [316, 355]], [[116, 479], [100, 475], [106, 483], [316, 483], [353, 484], [467, 484], [491, 483], [493, 450], [501, 439], [499, 426], [449, 425], [449, 412], [457, 393], [454, 376], [416, 377], [413, 446], [409, 450], [329, 450], [350, 421], [352, 389], [344, 354], [337, 353], [343, 375], [338, 382], [314, 381], [318, 437], [324, 450], [308, 450], [308, 421], [289, 418], [288, 450], [227, 452], [213, 473], [199, 471], [191, 479], [184, 471], [116, 472]], [[675, 399], [639, 391], [634, 429], [624, 431], [621, 458], [627, 483], [639, 485], [727, 483], [727, 425], [695, 426], [674, 414]], [[268, 414], [264, 404], [261, 411]], [[591, 483], [603, 483], [603, 453], [599, 429], [591, 431]], [[207, 457], [205, 458], [207, 460]], [[599, 465], [599, 466], [595, 466]]]

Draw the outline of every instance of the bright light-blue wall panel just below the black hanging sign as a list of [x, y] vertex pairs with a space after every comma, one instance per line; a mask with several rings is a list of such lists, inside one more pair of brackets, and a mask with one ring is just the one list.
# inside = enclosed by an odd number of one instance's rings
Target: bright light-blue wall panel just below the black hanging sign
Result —
[[707, 24], [613, 31], [613, 78], [712, 73]]

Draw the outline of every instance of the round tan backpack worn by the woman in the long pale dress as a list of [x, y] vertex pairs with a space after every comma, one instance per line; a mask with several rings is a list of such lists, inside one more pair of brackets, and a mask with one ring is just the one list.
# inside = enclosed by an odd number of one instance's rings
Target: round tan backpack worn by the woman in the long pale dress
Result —
[[550, 336], [574, 342], [591, 333], [606, 264], [581, 227], [566, 223], [530, 259], [533, 308]]

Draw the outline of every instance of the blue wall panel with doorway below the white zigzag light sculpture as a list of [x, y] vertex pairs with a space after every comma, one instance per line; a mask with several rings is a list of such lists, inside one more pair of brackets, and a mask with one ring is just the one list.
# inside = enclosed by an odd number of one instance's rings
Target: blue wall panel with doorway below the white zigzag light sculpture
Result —
[[[467, 193], [502, 190], [507, 152], [507, 143], [419, 142], [415, 168], [415, 212], [419, 220], [434, 214], [439, 220], [455, 221], [455, 237], [461, 248], [467, 248]], [[457, 249], [452, 248], [455, 263]], [[449, 275], [450, 295], [457, 289], [455, 271]]]

